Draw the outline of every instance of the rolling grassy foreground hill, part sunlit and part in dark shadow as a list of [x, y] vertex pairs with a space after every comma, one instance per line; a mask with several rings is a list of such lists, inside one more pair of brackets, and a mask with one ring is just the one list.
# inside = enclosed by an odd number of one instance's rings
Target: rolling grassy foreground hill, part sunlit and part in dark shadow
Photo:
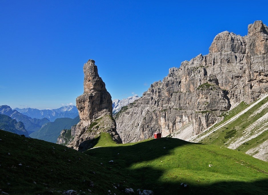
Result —
[[9, 194], [76, 190], [117, 195], [125, 194], [125, 188], [153, 190], [156, 195], [268, 191], [267, 162], [215, 145], [174, 138], [116, 144], [102, 133], [93, 140], [97, 148], [81, 153], [5, 131], [0, 131], [0, 139], [0, 189]]

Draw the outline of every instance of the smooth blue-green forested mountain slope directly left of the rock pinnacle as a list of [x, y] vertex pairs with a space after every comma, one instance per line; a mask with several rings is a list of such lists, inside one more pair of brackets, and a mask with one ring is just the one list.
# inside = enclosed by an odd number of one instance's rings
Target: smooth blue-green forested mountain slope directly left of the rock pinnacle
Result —
[[31, 133], [30, 137], [56, 143], [63, 129], [71, 129], [71, 127], [76, 125], [79, 121], [79, 116], [74, 119], [59, 118], [54, 122], [43, 125], [41, 129]]

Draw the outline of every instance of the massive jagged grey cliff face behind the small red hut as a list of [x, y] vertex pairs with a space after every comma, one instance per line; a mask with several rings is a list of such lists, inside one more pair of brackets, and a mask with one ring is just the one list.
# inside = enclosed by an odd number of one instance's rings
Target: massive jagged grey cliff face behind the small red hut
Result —
[[[268, 27], [249, 25], [248, 35], [224, 31], [209, 54], [170, 68], [143, 96], [116, 116], [123, 143], [161, 132], [186, 139], [223, 119], [241, 101], [250, 103], [268, 91]], [[187, 128], [184, 128], [187, 126]]]

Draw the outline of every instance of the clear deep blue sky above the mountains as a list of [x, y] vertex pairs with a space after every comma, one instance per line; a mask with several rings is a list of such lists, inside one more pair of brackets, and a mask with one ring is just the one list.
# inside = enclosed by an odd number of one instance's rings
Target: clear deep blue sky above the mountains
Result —
[[0, 0], [0, 105], [75, 104], [88, 59], [112, 99], [142, 96], [218, 33], [268, 24], [266, 2]]

